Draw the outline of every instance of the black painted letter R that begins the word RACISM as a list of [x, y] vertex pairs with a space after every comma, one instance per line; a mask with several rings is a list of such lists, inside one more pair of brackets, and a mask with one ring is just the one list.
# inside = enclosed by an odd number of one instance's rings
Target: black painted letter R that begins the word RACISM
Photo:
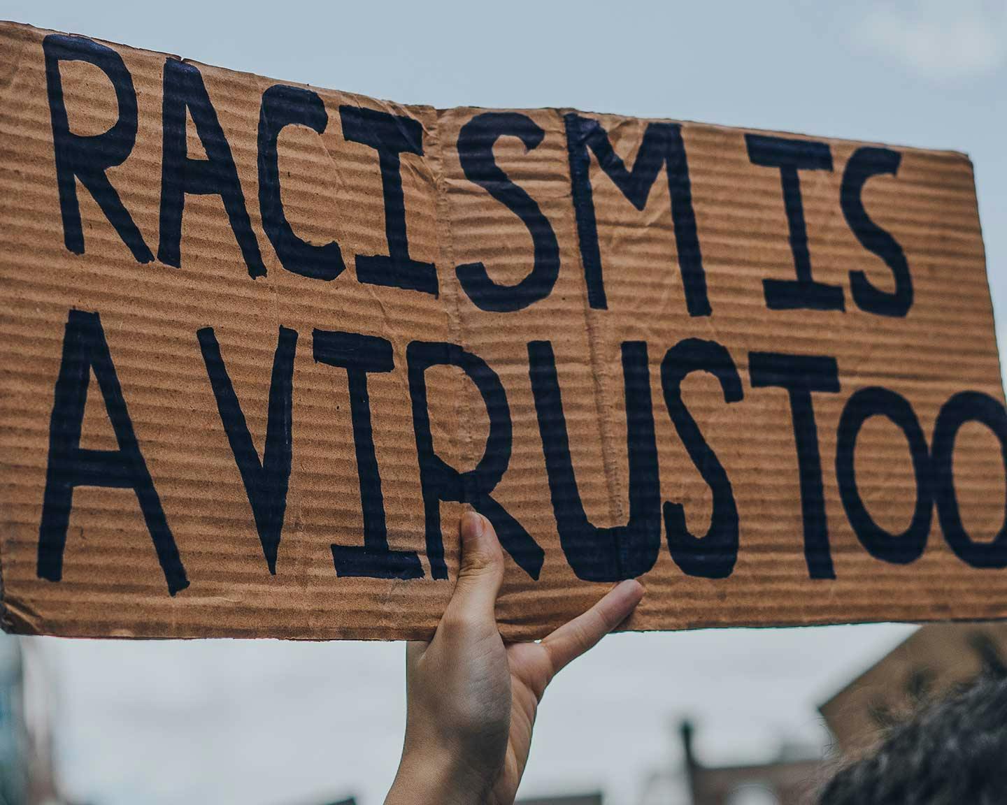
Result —
[[[63, 243], [70, 252], [84, 254], [84, 229], [77, 198], [77, 180], [88, 188], [102, 212], [129, 247], [137, 263], [150, 263], [154, 256], [143, 235], [123, 206], [119, 193], [105, 172], [126, 161], [136, 143], [136, 90], [126, 64], [111, 47], [83, 36], [50, 33], [42, 40], [45, 53], [45, 82], [52, 120], [52, 149], [59, 187], [59, 210], [63, 221]], [[108, 75], [116, 91], [119, 119], [105, 134], [86, 137], [69, 130], [63, 101], [60, 61], [87, 61]]]

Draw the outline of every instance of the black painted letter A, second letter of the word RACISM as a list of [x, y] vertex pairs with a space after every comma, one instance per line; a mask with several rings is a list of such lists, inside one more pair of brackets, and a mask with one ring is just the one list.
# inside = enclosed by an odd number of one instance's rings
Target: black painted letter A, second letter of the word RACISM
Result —
[[[186, 109], [192, 116], [206, 159], [191, 159], [188, 156], [185, 142]], [[179, 61], [177, 58], [165, 60], [161, 115], [161, 239], [157, 248], [157, 259], [176, 269], [181, 266], [179, 248], [185, 194], [215, 194], [224, 200], [224, 208], [245, 258], [249, 276], [264, 276], [266, 267], [245, 207], [245, 193], [238, 179], [238, 168], [231, 154], [231, 146], [224, 136], [217, 110], [209, 101], [202, 74], [195, 64]]]

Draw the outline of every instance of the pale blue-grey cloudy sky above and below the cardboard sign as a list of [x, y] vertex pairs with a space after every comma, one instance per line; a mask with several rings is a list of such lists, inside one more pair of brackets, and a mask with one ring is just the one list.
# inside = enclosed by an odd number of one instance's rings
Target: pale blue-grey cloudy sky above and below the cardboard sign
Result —
[[[277, 78], [441, 107], [572, 106], [967, 152], [1007, 331], [1007, 0], [115, 3], [0, 15]], [[903, 626], [620, 635], [546, 698], [526, 795], [629, 805], [700, 727], [710, 761], [821, 743], [815, 705]], [[379, 805], [402, 740], [403, 649], [42, 641], [60, 766], [97, 805]]]

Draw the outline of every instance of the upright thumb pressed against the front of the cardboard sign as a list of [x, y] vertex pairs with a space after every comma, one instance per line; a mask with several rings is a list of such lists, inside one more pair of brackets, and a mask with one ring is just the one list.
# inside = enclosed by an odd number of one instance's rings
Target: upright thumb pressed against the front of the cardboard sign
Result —
[[465, 512], [459, 528], [461, 569], [445, 614], [494, 620], [496, 596], [503, 584], [503, 550], [493, 526], [481, 514]]

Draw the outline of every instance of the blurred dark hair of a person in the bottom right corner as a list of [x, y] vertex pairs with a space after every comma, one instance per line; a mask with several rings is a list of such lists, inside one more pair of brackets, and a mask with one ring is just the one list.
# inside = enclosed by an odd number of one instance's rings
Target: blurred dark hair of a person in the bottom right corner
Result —
[[925, 705], [842, 769], [818, 803], [1007, 803], [1007, 677], [984, 677]]

